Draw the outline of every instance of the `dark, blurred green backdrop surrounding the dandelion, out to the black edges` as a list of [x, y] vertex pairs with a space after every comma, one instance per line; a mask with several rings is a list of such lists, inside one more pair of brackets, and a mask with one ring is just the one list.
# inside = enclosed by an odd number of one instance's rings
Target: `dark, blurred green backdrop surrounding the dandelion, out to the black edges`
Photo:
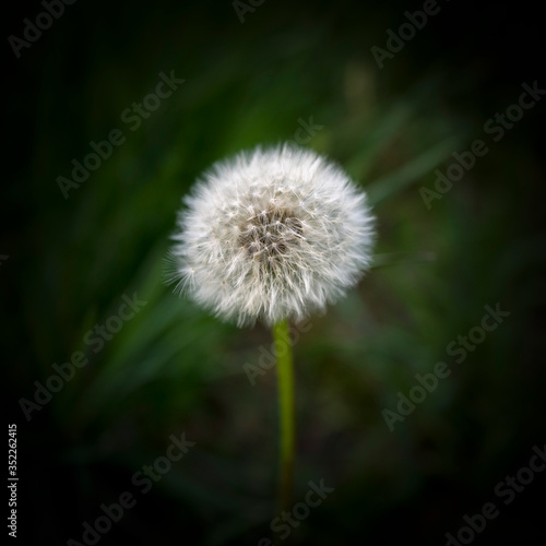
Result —
[[[541, 17], [524, 2], [439, 2], [380, 69], [370, 48], [422, 5], [265, 0], [241, 22], [229, 0], [80, 0], [20, 59], [4, 41], [0, 312], [23, 543], [82, 542], [128, 490], [136, 505], [98, 544], [272, 536], [276, 378], [251, 385], [242, 368], [270, 332], [221, 323], [163, 276], [202, 170], [305, 136], [369, 192], [378, 242], [373, 270], [295, 346], [294, 498], [309, 480], [335, 490], [284, 543], [446, 544], [496, 501], [475, 544], [541, 544], [545, 476], [510, 506], [494, 490], [546, 438], [545, 105], [497, 143], [484, 133], [523, 82], [546, 87]], [[9, 9], [5, 38], [44, 10]], [[185, 83], [131, 131], [121, 114], [170, 71]], [[301, 120], [321, 127], [298, 133]], [[127, 141], [64, 199], [57, 177], [112, 129]], [[419, 188], [474, 139], [489, 153], [428, 210]], [[134, 293], [146, 305], [93, 353], [86, 332]], [[510, 317], [455, 364], [447, 345], [497, 302]], [[90, 364], [28, 422], [21, 399], [74, 351]], [[440, 360], [452, 375], [389, 430], [383, 410]], [[132, 476], [182, 431], [195, 447], [141, 495]]]

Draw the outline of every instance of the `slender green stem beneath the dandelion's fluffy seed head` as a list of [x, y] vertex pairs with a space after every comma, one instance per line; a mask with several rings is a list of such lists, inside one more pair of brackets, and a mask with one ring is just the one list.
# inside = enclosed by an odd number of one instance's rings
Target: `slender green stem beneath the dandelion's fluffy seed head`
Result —
[[292, 506], [296, 426], [294, 418], [294, 365], [286, 320], [277, 322], [273, 327], [273, 336], [277, 358], [278, 427], [281, 435], [278, 502], [281, 510], [287, 510]]

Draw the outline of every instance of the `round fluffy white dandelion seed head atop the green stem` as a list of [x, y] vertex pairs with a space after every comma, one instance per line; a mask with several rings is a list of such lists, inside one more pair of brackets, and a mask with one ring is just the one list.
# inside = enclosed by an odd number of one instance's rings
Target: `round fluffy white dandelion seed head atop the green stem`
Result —
[[257, 147], [218, 162], [185, 202], [170, 281], [239, 327], [301, 320], [371, 262], [366, 194], [310, 150]]

